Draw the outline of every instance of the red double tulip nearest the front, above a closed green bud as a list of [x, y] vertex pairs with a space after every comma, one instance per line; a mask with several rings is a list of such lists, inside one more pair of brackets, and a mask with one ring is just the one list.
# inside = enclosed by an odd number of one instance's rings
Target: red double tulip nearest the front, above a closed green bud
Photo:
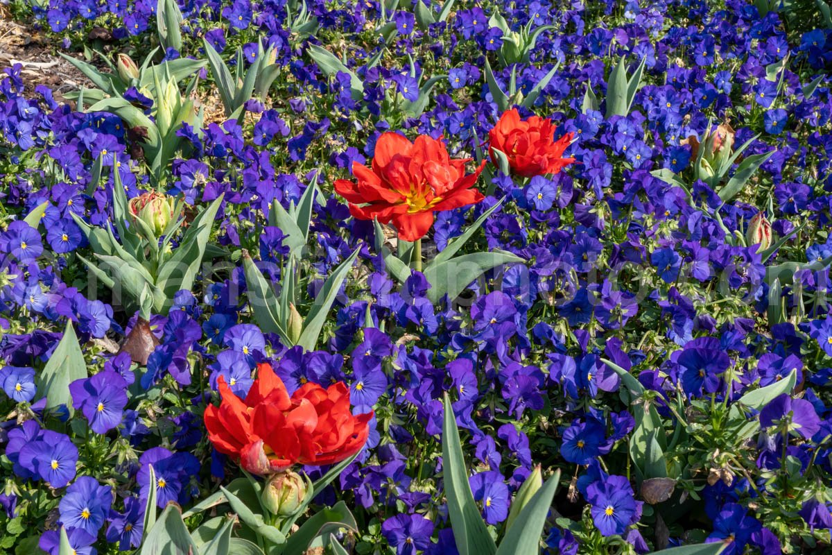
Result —
[[311, 382], [290, 395], [270, 364], [257, 365], [245, 401], [217, 380], [220, 406], [205, 412], [208, 439], [250, 473], [282, 472], [293, 464], [338, 463], [364, 447], [373, 413], [354, 416], [343, 383]]

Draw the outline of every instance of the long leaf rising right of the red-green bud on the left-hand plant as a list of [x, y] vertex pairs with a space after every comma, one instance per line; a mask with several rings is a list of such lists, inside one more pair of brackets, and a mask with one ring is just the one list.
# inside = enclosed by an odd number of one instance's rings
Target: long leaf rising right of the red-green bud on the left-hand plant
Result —
[[179, 247], [161, 265], [156, 285], [164, 292], [165, 300], [163, 306], [156, 306], [156, 310], [170, 308], [173, 295], [177, 291], [192, 289], [214, 227], [216, 213], [220, 209], [224, 196], [225, 193], [220, 194], [206, 210], [201, 211], [199, 216], [194, 218], [185, 235], [182, 235]]

